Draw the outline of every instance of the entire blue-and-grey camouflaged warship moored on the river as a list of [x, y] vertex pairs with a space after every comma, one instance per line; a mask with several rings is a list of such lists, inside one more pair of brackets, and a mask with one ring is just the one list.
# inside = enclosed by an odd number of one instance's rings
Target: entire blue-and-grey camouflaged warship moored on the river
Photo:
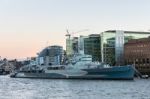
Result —
[[108, 79], [133, 80], [134, 68], [127, 66], [109, 66], [92, 62], [91, 55], [74, 55], [67, 65], [26, 65], [13, 72], [13, 78], [43, 79]]

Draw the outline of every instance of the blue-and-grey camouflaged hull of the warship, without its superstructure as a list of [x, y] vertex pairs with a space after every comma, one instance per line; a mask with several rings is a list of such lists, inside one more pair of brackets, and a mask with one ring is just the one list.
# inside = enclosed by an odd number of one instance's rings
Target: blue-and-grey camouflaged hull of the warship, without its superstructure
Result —
[[14, 78], [42, 78], [42, 79], [108, 79], [133, 80], [134, 68], [132, 66], [113, 66], [109, 68], [93, 69], [64, 69], [48, 70], [45, 72], [17, 72]]

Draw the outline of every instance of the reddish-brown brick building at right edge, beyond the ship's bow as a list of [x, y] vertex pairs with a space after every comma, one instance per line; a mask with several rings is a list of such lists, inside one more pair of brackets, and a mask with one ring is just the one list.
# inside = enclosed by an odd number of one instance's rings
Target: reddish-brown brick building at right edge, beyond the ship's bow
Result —
[[125, 64], [134, 64], [139, 72], [150, 75], [150, 38], [125, 43], [124, 58]]

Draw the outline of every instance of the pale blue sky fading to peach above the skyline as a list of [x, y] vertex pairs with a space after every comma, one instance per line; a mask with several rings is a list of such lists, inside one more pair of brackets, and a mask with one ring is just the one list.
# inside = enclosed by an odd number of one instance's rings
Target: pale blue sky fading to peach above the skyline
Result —
[[150, 0], [0, 0], [0, 56], [23, 59], [44, 47], [65, 49], [66, 29], [78, 35], [150, 30]]

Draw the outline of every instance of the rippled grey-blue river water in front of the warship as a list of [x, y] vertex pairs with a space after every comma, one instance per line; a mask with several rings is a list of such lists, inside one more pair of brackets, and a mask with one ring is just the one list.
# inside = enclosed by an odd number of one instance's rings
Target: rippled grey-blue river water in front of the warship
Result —
[[25, 79], [0, 76], [0, 99], [150, 99], [150, 79]]

